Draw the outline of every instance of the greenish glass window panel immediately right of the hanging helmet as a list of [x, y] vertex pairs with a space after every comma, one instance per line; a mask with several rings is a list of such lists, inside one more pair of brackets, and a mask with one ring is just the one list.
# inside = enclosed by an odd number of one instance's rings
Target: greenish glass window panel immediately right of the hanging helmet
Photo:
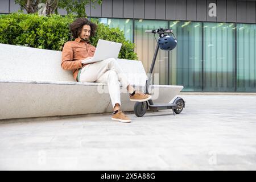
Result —
[[177, 47], [170, 51], [170, 84], [183, 91], [201, 91], [202, 23], [171, 21]]

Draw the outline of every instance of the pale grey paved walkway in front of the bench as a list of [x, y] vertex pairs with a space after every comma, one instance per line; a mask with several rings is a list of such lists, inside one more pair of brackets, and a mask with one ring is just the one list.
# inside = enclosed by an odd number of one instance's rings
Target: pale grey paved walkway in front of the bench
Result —
[[183, 95], [181, 114], [0, 121], [0, 169], [255, 170], [256, 96]]

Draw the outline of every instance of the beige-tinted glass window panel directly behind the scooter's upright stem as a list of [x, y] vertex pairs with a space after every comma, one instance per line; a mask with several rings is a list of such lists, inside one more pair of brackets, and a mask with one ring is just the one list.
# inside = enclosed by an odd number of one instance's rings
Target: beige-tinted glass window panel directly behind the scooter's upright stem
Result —
[[[151, 67], [152, 59], [157, 45], [156, 39], [158, 39], [158, 34], [155, 35], [155, 39], [154, 34], [147, 34], [145, 33], [145, 30], [155, 30], [158, 28], [168, 28], [168, 22], [164, 20], [135, 20], [135, 52], [137, 53], [139, 60], [142, 61], [146, 73], [149, 72]], [[159, 49], [153, 72], [153, 74], [159, 74], [159, 81], [157, 83], [155, 80], [155, 84], [168, 85], [167, 61], [168, 52]]]

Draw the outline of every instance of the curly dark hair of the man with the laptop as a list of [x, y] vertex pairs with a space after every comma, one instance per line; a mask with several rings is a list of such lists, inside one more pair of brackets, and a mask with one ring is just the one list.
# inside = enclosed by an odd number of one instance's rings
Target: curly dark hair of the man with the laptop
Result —
[[94, 36], [97, 30], [97, 25], [95, 23], [90, 22], [86, 18], [77, 18], [73, 23], [69, 25], [69, 30], [71, 31], [71, 34], [73, 38], [78, 38], [81, 31], [82, 27], [84, 25], [89, 25], [90, 26], [90, 37]]

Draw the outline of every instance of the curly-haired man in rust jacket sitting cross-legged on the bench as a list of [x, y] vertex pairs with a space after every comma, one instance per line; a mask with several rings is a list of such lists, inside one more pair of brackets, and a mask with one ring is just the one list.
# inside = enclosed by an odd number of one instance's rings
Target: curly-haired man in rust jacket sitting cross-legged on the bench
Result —
[[150, 95], [141, 93], [133, 88], [127, 81], [125, 73], [119, 67], [117, 60], [109, 58], [96, 63], [82, 64], [86, 59], [93, 57], [95, 47], [89, 38], [96, 33], [97, 25], [86, 18], [77, 18], [70, 24], [69, 29], [75, 41], [65, 43], [62, 52], [61, 67], [72, 70], [76, 81], [102, 82], [108, 85], [109, 94], [113, 105], [112, 119], [120, 122], [131, 122], [131, 119], [121, 110], [119, 82], [127, 88], [130, 101], [144, 102], [151, 98]]

